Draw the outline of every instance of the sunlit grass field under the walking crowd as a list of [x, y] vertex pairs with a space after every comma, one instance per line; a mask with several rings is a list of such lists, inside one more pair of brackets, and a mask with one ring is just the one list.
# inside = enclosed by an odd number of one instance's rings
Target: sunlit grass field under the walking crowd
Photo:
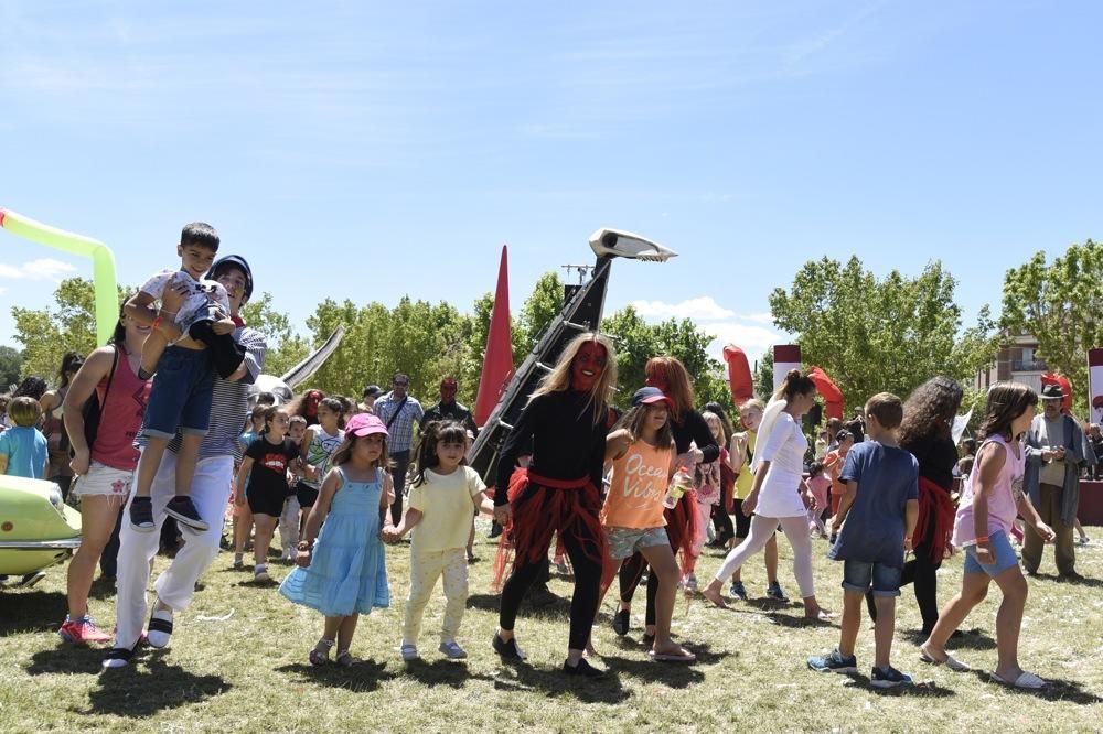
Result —
[[[203, 578], [192, 606], [176, 615], [165, 650], [146, 649], [136, 665], [101, 673], [101, 649], [63, 645], [55, 630], [65, 613], [64, 568], [25, 591], [0, 591], [0, 731], [1099, 731], [1103, 727], [1103, 529], [1078, 548], [1084, 584], [1058, 583], [1052, 551], [1029, 581], [1020, 661], [1051, 681], [1048, 690], [1020, 692], [990, 682], [984, 672], [952, 673], [917, 657], [919, 615], [906, 589], [897, 615], [893, 662], [925, 686], [875, 691], [865, 676], [846, 678], [807, 670], [805, 658], [829, 650], [837, 625], [808, 626], [801, 607], [764, 596], [761, 559], [745, 570], [749, 603], [710, 608], [697, 597], [679, 601], [676, 636], [699, 657], [693, 666], [652, 662], [640, 643], [643, 590], [624, 638], [609, 626], [607, 602], [595, 628], [599, 663], [611, 676], [597, 682], [565, 679], [566, 604], [523, 608], [518, 641], [529, 663], [502, 665], [490, 646], [497, 597], [489, 590], [493, 546], [480, 533], [471, 598], [460, 635], [470, 657], [452, 662], [437, 652], [432, 634], [443, 598], [426, 613], [424, 660], [406, 665], [397, 645], [407, 590], [408, 546], [387, 549], [392, 606], [361, 620], [351, 669], [314, 668], [307, 652], [321, 632], [313, 612], [286, 602], [274, 587], [231, 570], [222, 553]], [[781, 581], [795, 593], [788, 543]], [[839, 607], [839, 564], [816, 541], [822, 603]], [[720, 555], [707, 551], [698, 576], [707, 579]], [[158, 558], [157, 570], [168, 563]], [[286, 566], [270, 566], [277, 578]], [[961, 559], [940, 572], [940, 602], [961, 581]], [[553, 591], [569, 594], [565, 580]], [[993, 593], [966, 620], [955, 655], [976, 670], [996, 659]], [[114, 596], [94, 590], [92, 613], [110, 628]], [[202, 619], [224, 617], [225, 620]], [[864, 625], [858, 663], [868, 671], [872, 632]]]

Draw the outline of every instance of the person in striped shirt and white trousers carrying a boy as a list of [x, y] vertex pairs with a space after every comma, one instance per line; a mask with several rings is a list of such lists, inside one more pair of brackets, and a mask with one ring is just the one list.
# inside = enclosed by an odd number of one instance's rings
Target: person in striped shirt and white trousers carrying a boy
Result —
[[[207, 278], [217, 280], [229, 293], [231, 317], [237, 323], [234, 337], [246, 350], [242, 366], [228, 379], [215, 376], [211, 427], [203, 439], [192, 481], [191, 497], [201, 517], [222, 517], [229, 501], [234, 462], [240, 455], [237, 436], [248, 414], [248, 386], [264, 368], [267, 343], [260, 332], [246, 326], [238, 316], [239, 309], [253, 293], [253, 272], [245, 259], [235, 255], [222, 258], [214, 263]], [[138, 532], [124, 522], [119, 533], [115, 646], [104, 660], [105, 668], [125, 667], [141, 641], [148, 604], [146, 589], [151, 561], [157, 554], [160, 526], [164, 521], [162, 510], [175, 493], [179, 444], [178, 435], [169, 444], [150, 490], [157, 531]], [[151, 646], [162, 648], [169, 644], [173, 613], [191, 603], [195, 582], [218, 554], [221, 539], [221, 522], [212, 522], [210, 529], [202, 532], [185, 532], [183, 548], [153, 583], [157, 602], [149, 619]]]

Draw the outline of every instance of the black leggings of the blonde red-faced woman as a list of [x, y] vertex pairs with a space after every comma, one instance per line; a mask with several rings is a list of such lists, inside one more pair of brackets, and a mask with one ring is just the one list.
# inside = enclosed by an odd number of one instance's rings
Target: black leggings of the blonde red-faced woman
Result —
[[[552, 492], [546, 492], [544, 497], [547, 501], [552, 497]], [[570, 597], [570, 640], [567, 645], [572, 650], [586, 649], [586, 644], [590, 639], [590, 628], [598, 614], [601, 563], [596, 563], [586, 553], [586, 549], [592, 551], [597, 540], [585, 537], [588, 532], [583, 523], [576, 522], [560, 533], [564, 549], [567, 551], [567, 558], [570, 559], [570, 565], [575, 572], [575, 593]], [[553, 533], [552, 537], [554, 538], [555, 535]], [[502, 605], [497, 615], [497, 624], [502, 629], [513, 629], [517, 620], [517, 609], [521, 608], [521, 601], [533, 583], [547, 572], [547, 554], [552, 539], [549, 538], [543, 546], [540, 557], [533, 562], [521, 560], [522, 554], [527, 554], [529, 549], [518, 548], [516, 550], [517, 562], [513, 566], [513, 573], [502, 586]]]

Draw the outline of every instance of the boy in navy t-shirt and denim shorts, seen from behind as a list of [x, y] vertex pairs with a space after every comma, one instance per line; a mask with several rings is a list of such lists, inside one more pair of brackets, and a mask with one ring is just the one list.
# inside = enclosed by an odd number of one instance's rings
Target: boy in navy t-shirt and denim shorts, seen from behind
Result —
[[875, 657], [869, 682], [876, 688], [911, 686], [911, 677], [889, 665], [900, 595], [903, 559], [919, 519], [919, 463], [897, 444], [903, 419], [900, 398], [879, 392], [866, 403], [868, 441], [854, 446], [839, 473], [843, 501], [832, 520], [838, 538], [827, 557], [843, 561], [843, 619], [838, 648], [808, 658], [820, 672], [858, 671], [854, 646], [861, 624], [861, 603], [870, 589], [877, 605]]

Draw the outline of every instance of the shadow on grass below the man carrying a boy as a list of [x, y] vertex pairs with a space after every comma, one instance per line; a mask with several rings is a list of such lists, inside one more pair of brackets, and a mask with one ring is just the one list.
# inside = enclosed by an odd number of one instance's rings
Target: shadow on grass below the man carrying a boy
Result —
[[[95, 652], [103, 659], [103, 650]], [[163, 658], [158, 652], [137, 665], [105, 670], [99, 676], [99, 688], [88, 693], [88, 708], [73, 711], [144, 719], [159, 711], [197, 703], [232, 688], [221, 676], [196, 676], [180, 666], [165, 663]]]

